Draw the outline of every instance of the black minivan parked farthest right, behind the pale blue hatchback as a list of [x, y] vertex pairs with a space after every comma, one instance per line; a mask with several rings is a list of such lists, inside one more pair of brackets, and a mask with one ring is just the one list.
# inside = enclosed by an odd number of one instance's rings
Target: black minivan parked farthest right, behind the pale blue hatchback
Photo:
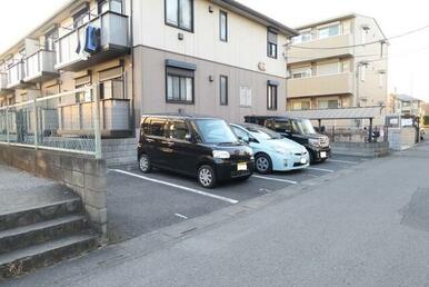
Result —
[[245, 117], [246, 122], [257, 123], [269, 128], [285, 138], [305, 146], [310, 154], [310, 161], [325, 161], [331, 155], [329, 138], [316, 132], [308, 119], [289, 117]]

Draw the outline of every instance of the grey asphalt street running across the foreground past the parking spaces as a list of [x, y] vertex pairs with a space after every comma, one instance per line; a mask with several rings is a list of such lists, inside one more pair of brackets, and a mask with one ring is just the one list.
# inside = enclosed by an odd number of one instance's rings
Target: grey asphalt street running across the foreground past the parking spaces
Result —
[[428, 175], [422, 145], [9, 286], [428, 286]]

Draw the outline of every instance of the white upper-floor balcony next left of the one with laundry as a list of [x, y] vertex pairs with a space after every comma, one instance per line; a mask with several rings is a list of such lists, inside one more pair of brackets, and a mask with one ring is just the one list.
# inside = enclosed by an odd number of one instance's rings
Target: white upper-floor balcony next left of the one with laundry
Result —
[[54, 63], [56, 52], [39, 50], [26, 58], [26, 77], [23, 80], [26, 82], [36, 83], [57, 77], [58, 72], [54, 69]]

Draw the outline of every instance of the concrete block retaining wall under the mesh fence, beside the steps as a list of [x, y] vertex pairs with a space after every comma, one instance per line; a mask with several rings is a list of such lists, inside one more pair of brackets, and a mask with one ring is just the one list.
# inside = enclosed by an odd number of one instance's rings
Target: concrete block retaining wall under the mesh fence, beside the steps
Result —
[[107, 234], [106, 161], [71, 152], [0, 145], [0, 161], [61, 182], [80, 196], [91, 226]]

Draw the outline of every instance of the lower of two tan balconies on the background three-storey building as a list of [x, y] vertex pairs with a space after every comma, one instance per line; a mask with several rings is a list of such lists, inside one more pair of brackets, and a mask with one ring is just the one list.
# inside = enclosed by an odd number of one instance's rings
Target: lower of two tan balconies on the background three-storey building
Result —
[[288, 98], [353, 93], [351, 72], [288, 80]]

